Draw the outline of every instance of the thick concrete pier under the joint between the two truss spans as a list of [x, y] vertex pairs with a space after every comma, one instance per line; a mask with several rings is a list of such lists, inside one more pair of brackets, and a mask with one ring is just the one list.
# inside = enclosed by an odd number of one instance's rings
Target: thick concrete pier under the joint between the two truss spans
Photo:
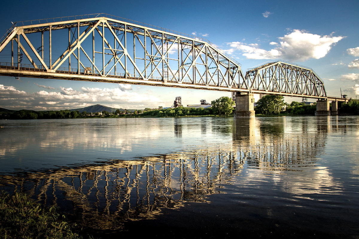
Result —
[[234, 118], [252, 118], [255, 116], [253, 94], [236, 94], [236, 112]]

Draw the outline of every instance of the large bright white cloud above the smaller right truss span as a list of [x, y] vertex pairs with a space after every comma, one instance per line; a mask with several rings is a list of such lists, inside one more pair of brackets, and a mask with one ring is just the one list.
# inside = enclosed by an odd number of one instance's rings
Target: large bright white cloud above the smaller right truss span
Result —
[[248, 59], [282, 58], [288, 61], [306, 61], [310, 58], [319, 59], [324, 57], [332, 46], [343, 38], [331, 35], [321, 36], [294, 29], [284, 37], [279, 37], [278, 43], [271, 42], [270, 45], [276, 46], [273, 49], [261, 49], [258, 44], [232, 42], [227, 43], [230, 49], [227, 49], [226, 52], [232, 54], [235, 51], [241, 51], [243, 52], [242, 55]]

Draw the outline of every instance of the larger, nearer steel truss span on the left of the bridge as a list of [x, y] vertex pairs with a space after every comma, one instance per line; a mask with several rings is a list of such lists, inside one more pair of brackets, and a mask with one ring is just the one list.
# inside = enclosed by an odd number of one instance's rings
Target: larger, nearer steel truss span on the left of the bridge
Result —
[[226, 91], [244, 80], [211, 43], [106, 17], [14, 27], [0, 54], [1, 75]]

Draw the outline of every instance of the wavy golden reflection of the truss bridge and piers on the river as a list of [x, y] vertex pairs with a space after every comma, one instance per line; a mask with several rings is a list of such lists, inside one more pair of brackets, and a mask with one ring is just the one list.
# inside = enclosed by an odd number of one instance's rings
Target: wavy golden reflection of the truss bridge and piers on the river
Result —
[[[3, 175], [0, 183], [27, 192], [37, 202], [57, 205], [76, 215], [85, 228], [125, 230], [125, 221], [157, 218], [163, 208], [178, 209], [187, 202], [207, 203], [209, 195], [224, 193], [226, 185], [238, 183], [238, 178], [251, 180], [252, 168], [285, 174], [284, 171], [313, 166], [323, 153], [327, 132], [331, 130], [328, 122], [321, 123], [325, 118], [316, 119], [318, 124], [312, 126], [303, 120], [299, 123], [302, 126], [293, 127], [302, 132], [286, 137], [285, 124], [295, 121], [278, 118], [274, 123], [256, 124], [256, 120], [237, 119], [232, 125], [215, 126], [219, 127], [216, 131], [233, 132], [232, 144], [228, 145], [184, 149], [129, 161], [113, 159], [15, 177]], [[206, 130], [201, 128], [201, 132]], [[182, 137], [178, 121], [174, 124], [174, 136]], [[323, 177], [327, 186], [333, 186], [325, 168], [313, 176]], [[300, 194], [306, 190], [300, 189], [295, 180], [290, 182], [284, 191]], [[308, 188], [318, 187], [316, 182], [300, 183], [308, 183]]]

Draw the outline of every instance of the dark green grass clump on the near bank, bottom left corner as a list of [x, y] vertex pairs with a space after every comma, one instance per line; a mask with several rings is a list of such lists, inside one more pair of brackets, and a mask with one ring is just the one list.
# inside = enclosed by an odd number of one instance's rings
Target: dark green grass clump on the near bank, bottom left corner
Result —
[[23, 193], [0, 194], [0, 238], [82, 238], [63, 219], [54, 206], [42, 207]]

